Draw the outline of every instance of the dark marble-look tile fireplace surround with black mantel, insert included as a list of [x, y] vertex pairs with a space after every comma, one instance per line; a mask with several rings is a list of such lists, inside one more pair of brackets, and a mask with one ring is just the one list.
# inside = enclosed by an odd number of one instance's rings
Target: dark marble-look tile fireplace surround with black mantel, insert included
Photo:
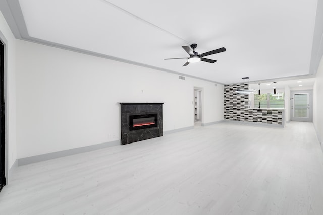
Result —
[[120, 103], [121, 145], [163, 136], [164, 103]]

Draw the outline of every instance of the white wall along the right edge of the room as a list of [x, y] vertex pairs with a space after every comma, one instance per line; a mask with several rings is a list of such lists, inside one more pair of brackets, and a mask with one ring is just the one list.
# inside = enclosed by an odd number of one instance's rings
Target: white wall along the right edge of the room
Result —
[[[316, 72], [316, 80], [313, 87], [313, 124], [320, 142], [323, 141], [323, 58]], [[323, 147], [323, 146], [321, 146]], [[323, 148], [322, 148], [323, 149]]]

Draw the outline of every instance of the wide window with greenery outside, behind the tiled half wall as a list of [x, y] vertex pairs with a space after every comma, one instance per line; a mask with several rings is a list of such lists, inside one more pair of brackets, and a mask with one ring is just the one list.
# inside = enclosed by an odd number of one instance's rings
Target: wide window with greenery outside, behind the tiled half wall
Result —
[[254, 108], [284, 108], [284, 93], [254, 94]]

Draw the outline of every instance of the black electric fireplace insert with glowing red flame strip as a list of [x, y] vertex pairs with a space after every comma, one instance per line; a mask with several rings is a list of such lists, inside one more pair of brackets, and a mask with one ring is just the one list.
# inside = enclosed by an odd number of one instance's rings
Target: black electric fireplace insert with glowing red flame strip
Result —
[[144, 114], [129, 116], [129, 130], [139, 130], [158, 126], [158, 114]]

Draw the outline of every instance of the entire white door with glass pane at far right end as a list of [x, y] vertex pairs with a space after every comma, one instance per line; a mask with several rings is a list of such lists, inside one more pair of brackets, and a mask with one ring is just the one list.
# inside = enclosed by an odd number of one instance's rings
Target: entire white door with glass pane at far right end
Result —
[[312, 91], [291, 91], [291, 120], [312, 122]]

